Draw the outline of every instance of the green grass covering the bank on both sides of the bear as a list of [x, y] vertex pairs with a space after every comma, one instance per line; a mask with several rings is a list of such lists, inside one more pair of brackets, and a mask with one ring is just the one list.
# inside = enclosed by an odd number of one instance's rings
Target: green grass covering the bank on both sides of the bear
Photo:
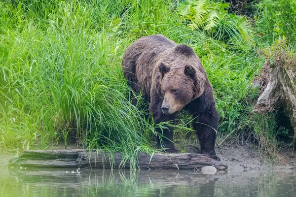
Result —
[[[257, 97], [251, 81], [264, 61], [256, 47], [190, 30], [178, 6], [164, 0], [0, 2], [0, 147], [76, 142], [119, 151], [134, 166], [135, 153], [152, 154], [156, 126], [129, 102], [120, 65], [129, 44], [156, 33], [190, 45], [200, 57], [215, 90], [219, 137], [274, 121], [250, 119]], [[177, 127], [181, 144], [192, 134], [189, 122]]]

